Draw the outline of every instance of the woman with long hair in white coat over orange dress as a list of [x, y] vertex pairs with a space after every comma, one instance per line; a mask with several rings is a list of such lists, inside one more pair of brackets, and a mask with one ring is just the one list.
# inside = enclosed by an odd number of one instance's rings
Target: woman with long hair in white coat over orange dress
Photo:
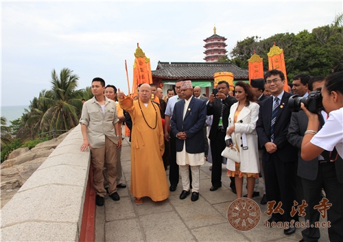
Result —
[[228, 176], [235, 177], [237, 198], [242, 197], [243, 177], [247, 178], [248, 198], [252, 198], [255, 178], [259, 178], [259, 150], [257, 148], [256, 122], [259, 119], [259, 104], [249, 84], [235, 85], [237, 103], [230, 108], [226, 138], [232, 138], [229, 147], [236, 147], [241, 162], [228, 159]]

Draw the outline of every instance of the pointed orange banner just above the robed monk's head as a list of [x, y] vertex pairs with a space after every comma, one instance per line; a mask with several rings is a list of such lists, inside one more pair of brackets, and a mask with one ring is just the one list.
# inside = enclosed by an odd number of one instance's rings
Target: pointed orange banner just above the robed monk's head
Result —
[[150, 58], [145, 56], [145, 53], [139, 47], [138, 43], [134, 57], [132, 97], [137, 96], [137, 86], [139, 86], [139, 84], [152, 84]]

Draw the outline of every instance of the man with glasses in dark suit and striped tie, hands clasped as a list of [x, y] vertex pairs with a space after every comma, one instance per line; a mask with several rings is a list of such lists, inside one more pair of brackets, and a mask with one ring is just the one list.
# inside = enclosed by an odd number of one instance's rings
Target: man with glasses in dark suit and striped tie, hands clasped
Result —
[[[296, 200], [296, 161], [298, 149], [287, 141], [289, 121], [292, 112], [288, 108], [288, 100], [292, 94], [283, 90], [285, 75], [282, 71], [272, 70], [265, 73], [265, 82], [272, 96], [260, 102], [259, 120], [256, 131], [259, 143], [263, 147], [262, 165], [265, 175], [265, 190], [267, 200], [276, 202], [274, 209], [282, 203], [283, 214], [272, 213], [268, 220], [290, 222], [298, 221], [298, 215], [291, 217], [292, 206]], [[289, 235], [296, 228], [284, 230]]]

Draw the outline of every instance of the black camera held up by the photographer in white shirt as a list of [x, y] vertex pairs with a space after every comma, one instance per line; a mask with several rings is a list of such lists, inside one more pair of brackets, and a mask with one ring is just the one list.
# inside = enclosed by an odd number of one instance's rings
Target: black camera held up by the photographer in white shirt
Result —
[[318, 113], [318, 111], [324, 109], [322, 106], [322, 93], [320, 90], [315, 90], [314, 92], [309, 93], [307, 97], [299, 97], [297, 95], [289, 97], [289, 110], [291, 110], [291, 112], [298, 112], [302, 110], [300, 108], [301, 103], [305, 105], [305, 108], [307, 108], [309, 112]]

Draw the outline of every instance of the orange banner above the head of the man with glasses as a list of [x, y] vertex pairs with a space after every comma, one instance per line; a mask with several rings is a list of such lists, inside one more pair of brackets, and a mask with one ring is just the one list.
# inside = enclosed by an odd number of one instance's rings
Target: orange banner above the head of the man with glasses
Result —
[[287, 73], [286, 73], [286, 64], [285, 64], [285, 57], [283, 56], [283, 49], [280, 49], [274, 45], [270, 48], [268, 53], [268, 64], [269, 64], [269, 71], [272, 69], [276, 69], [282, 71], [285, 75], [285, 86], [283, 86], [283, 90], [288, 92], [288, 82], [287, 82]]

